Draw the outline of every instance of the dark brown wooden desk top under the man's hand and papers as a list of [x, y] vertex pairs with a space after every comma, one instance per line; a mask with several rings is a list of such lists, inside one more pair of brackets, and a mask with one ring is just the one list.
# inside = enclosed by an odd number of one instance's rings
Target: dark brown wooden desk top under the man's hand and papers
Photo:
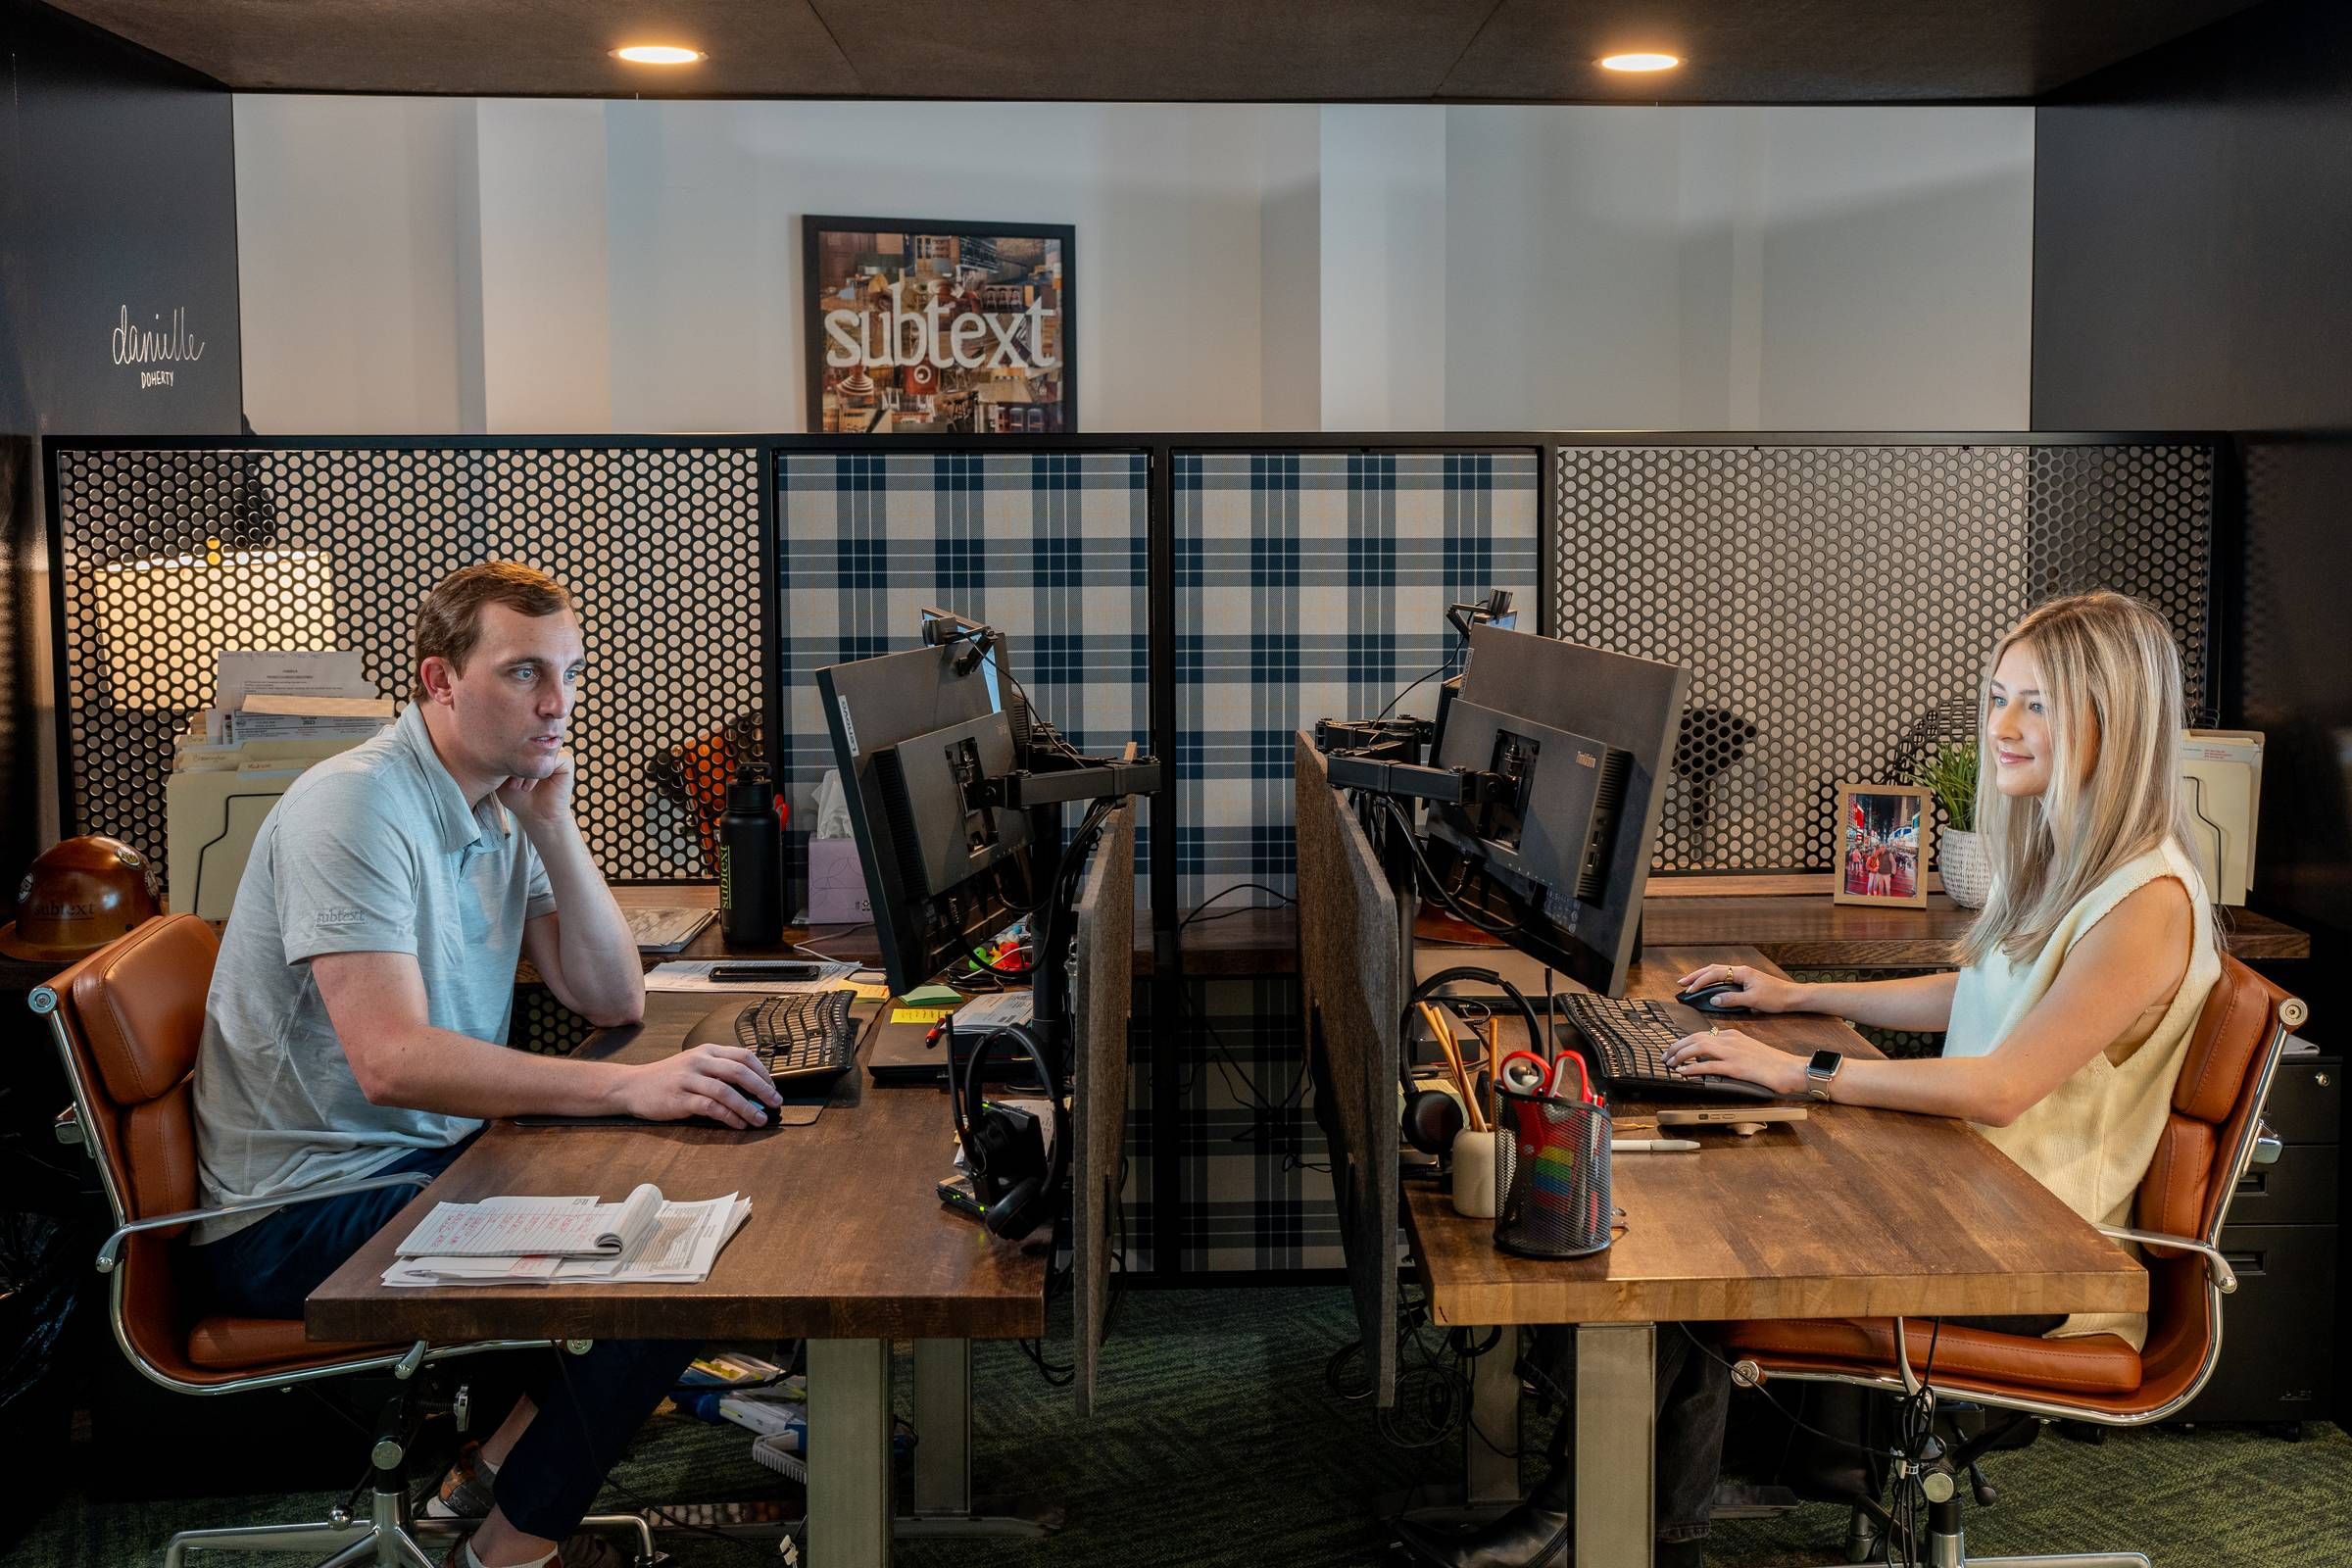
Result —
[[[708, 997], [656, 992], [647, 1030], [682, 1032]], [[861, 1067], [863, 1072], [863, 1067]], [[934, 1088], [863, 1086], [809, 1126], [492, 1124], [362, 1246], [303, 1314], [313, 1340], [480, 1338], [978, 1338], [1044, 1333], [1044, 1248], [997, 1241], [938, 1206], [955, 1143]], [[741, 1192], [750, 1218], [691, 1286], [388, 1288], [393, 1244], [430, 1206], [496, 1194], [607, 1201]]]

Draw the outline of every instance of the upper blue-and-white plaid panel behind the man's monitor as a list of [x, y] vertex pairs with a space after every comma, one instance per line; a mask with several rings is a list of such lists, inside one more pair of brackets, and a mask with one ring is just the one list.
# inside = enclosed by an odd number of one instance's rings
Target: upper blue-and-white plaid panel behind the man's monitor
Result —
[[1080, 750], [1150, 743], [1148, 475], [1141, 451], [776, 456], [788, 907], [833, 766], [816, 670], [915, 646], [924, 604], [1004, 632], [1014, 679]]

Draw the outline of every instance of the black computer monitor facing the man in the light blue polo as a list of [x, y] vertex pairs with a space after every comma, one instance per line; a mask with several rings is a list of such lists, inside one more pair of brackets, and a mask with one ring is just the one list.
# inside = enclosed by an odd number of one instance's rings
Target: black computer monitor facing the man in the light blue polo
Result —
[[1009, 668], [995, 637], [985, 651], [946, 642], [816, 672], [894, 992], [1021, 919], [1051, 877], [1042, 860], [1058, 858], [1033, 813], [981, 799], [1018, 766]]

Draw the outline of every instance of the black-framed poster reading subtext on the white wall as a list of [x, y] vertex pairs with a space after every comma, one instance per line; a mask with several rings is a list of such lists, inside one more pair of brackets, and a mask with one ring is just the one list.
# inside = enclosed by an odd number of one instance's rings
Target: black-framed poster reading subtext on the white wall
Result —
[[1068, 223], [800, 221], [809, 430], [1068, 435]]

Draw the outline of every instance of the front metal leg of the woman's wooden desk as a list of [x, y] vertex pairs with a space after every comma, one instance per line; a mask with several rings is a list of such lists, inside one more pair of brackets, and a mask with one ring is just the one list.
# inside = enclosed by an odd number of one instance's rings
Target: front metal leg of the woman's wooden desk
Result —
[[1649, 1568], [1658, 1535], [1656, 1324], [1576, 1328], [1576, 1561]]

